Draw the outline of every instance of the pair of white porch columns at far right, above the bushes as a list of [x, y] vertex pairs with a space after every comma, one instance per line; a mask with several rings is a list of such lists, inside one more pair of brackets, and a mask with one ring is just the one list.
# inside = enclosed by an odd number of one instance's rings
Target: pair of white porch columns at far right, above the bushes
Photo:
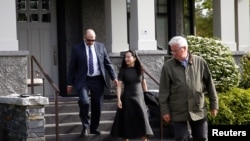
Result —
[[249, 0], [213, 0], [214, 36], [232, 51], [250, 49]]

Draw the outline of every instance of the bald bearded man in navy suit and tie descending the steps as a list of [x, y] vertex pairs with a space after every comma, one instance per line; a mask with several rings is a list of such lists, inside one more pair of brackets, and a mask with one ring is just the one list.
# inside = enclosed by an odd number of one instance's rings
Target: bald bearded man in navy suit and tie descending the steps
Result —
[[[74, 87], [79, 96], [79, 116], [83, 125], [82, 136], [88, 134], [88, 128], [91, 134], [100, 134], [97, 128], [101, 116], [104, 87], [107, 86], [105, 70], [114, 85], [117, 86], [118, 83], [104, 44], [95, 39], [95, 31], [87, 29], [83, 41], [72, 48], [68, 69], [67, 92], [70, 94]], [[89, 106], [91, 106], [90, 123]]]

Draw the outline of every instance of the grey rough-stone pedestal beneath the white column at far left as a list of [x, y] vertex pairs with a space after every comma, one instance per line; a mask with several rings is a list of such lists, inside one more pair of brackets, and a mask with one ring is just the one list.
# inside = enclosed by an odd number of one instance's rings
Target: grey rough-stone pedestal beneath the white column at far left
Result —
[[27, 51], [0, 51], [0, 96], [27, 93]]

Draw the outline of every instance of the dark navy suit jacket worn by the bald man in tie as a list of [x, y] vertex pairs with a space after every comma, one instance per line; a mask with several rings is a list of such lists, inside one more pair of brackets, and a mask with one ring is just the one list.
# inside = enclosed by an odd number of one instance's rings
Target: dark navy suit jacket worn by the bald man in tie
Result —
[[[94, 48], [97, 55], [98, 65], [101, 75], [107, 86], [106, 70], [111, 80], [116, 79], [116, 73], [109, 59], [106, 48], [103, 43], [95, 41]], [[71, 50], [70, 63], [68, 67], [68, 85], [74, 86], [76, 90], [80, 90], [86, 84], [88, 74], [88, 62], [86, 54], [86, 46], [84, 41], [75, 45]]]

